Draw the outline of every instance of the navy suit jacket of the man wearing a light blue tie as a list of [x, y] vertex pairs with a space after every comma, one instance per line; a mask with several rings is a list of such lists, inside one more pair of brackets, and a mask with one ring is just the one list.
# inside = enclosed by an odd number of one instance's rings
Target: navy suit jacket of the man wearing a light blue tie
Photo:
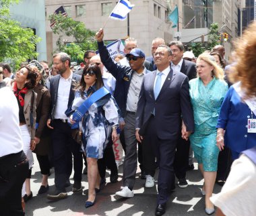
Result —
[[155, 108], [158, 138], [167, 140], [179, 137], [181, 113], [187, 131], [194, 131], [193, 110], [189, 98], [189, 79], [187, 76], [181, 72], [173, 72], [170, 68], [157, 99], [154, 98], [155, 77], [156, 70], [143, 77], [135, 128], [145, 128]]

